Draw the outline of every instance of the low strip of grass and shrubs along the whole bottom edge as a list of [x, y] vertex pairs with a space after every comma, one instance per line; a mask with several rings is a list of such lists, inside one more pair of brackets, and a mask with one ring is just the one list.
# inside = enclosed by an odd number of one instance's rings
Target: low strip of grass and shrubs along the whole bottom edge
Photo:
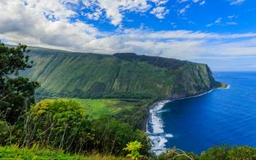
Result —
[[[131, 145], [131, 144], [130, 144]], [[128, 147], [128, 146], [127, 146]], [[129, 146], [129, 148], [131, 148]], [[91, 152], [89, 154], [69, 154], [64, 151], [53, 149], [38, 149], [38, 146], [31, 148], [18, 146], [0, 146], [0, 159], [81, 159], [81, 160], [121, 160], [126, 157], [114, 157]], [[130, 159], [130, 158], [128, 158]], [[136, 158], [133, 158], [136, 159]], [[142, 159], [142, 158], [137, 158]], [[195, 155], [193, 152], [185, 152], [177, 149], [171, 149], [162, 153], [159, 157], [143, 157], [143, 159], [152, 160], [254, 160], [256, 159], [256, 149], [249, 146], [215, 146], [201, 155]]]

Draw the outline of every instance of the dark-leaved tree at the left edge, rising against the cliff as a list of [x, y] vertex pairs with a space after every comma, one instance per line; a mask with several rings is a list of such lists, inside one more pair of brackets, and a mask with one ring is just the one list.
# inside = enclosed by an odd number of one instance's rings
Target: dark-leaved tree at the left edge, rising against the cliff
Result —
[[32, 67], [26, 45], [9, 48], [0, 43], [0, 118], [15, 123], [27, 107], [34, 103], [34, 92], [39, 87], [26, 77], [19, 77], [19, 71]]

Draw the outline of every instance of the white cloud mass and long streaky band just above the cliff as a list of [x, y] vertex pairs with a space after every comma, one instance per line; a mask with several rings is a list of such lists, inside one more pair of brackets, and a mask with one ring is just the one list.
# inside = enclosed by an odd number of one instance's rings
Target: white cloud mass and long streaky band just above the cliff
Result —
[[[56, 4], [55, 8], [50, 8], [44, 1], [36, 2], [38, 3], [32, 2], [32, 5], [29, 1], [27, 4], [20, 0], [0, 1], [0, 39], [9, 43], [26, 43], [80, 52], [135, 52], [185, 60], [202, 56], [241, 56], [256, 53], [256, 33], [253, 32], [218, 34], [202, 31], [150, 31], [146, 28], [102, 32], [79, 20], [70, 22], [69, 18], [76, 13], [67, 9], [66, 5], [76, 1], [51, 0], [50, 3]], [[131, 5], [122, 5], [122, 10], [132, 8]], [[47, 19], [44, 13], [55, 16], [56, 20]], [[119, 21], [116, 17], [112, 19]], [[215, 20], [218, 21], [224, 20]]]

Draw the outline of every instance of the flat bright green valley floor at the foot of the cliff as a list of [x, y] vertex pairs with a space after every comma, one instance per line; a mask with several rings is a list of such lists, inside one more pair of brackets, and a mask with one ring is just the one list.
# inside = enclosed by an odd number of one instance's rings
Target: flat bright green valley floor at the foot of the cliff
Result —
[[129, 123], [133, 129], [143, 129], [148, 106], [153, 100], [125, 99], [78, 99], [72, 98], [84, 107], [89, 118], [112, 117], [120, 123]]

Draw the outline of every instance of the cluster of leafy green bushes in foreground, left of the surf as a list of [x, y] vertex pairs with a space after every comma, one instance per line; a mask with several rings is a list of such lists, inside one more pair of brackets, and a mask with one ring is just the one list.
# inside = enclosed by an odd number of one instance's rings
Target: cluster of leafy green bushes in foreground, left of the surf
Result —
[[[125, 155], [125, 145], [137, 140], [144, 146], [143, 155], [148, 154], [149, 140], [143, 131], [110, 117], [90, 120], [86, 112], [73, 100], [42, 100], [32, 106], [23, 122], [9, 126], [0, 121], [0, 143], [5, 145], [12, 140], [23, 147], [38, 145], [68, 152]], [[14, 129], [11, 137], [9, 127]]]

